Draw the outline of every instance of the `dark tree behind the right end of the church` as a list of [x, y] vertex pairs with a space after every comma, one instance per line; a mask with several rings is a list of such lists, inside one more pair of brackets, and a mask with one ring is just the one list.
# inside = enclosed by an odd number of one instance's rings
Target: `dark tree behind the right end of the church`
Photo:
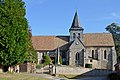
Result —
[[116, 23], [112, 23], [106, 27], [106, 30], [112, 33], [115, 42], [115, 49], [118, 59], [120, 60], [120, 26]]

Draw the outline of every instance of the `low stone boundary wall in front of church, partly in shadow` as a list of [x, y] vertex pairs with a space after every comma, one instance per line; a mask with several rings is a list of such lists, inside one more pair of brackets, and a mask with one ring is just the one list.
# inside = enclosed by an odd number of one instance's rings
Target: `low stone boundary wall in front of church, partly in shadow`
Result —
[[[55, 71], [56, 70], [56, 71]], [[69, 74], [69, 75], [86, 75], [86, 76], [104, 76], [114, 73], [107, 69], [92, 69], [83, 67], [69, 67], [69, 66], [55, 66], [53, 67], [53, 74]]]

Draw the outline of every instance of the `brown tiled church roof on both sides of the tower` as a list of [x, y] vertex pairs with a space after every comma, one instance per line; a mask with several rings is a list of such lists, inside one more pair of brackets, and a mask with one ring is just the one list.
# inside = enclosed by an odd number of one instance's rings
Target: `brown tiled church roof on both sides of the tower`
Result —
[[[36, 50], [55, 50], [69, 44], [69, 36], [33, 36], [33, 47]], [[87, 33], [83, 34], [83, 44], [85, 47], [93, 46], [114, 46], [112, 34], [110, 33]], [[65, 46], [66, 45], [66, 46]]]

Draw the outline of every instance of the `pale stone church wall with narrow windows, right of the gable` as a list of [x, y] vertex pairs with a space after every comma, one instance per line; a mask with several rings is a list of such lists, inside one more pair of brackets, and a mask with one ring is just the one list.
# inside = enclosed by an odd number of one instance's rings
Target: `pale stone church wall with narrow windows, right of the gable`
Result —
[[[94, 51], [94, 57], [92, 54]], [[106, 51], [106, 55], [105, 55]], [[88, 62], [93, 64], [93, 68], [98, 69], [113, 69], [112, 47], [87, 47], [86, 54]]]

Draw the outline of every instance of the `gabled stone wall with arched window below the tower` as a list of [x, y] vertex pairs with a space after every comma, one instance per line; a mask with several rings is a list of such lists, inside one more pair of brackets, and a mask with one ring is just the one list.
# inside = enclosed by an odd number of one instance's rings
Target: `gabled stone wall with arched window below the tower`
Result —
[[[84, 52], [83, 52], [84, 46], [78, 41], [78, 39], [75, 39], [75, 41], [72, 43], [72, 45], [69, 48], [69, 65], [71, 66], [84, 66]], [[76, 60], [76, 54], [79, 53], [79, 60]], [[78, 64], [76, 63], [78, 61]]]

